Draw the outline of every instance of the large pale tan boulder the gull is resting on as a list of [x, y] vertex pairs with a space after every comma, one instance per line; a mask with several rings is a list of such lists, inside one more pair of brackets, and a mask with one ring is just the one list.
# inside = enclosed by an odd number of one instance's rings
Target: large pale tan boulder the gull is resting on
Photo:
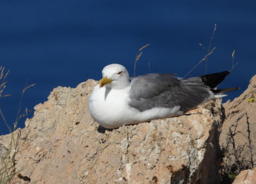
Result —
[[[219, 183], [221, 99], [179, 117], [109, 130], [88, 112], [97, 83], [57, 87], [34, 108], [14, 133], [19, 176], [37, 183]], [[0, 137], [2, 153], [9, 140]]]

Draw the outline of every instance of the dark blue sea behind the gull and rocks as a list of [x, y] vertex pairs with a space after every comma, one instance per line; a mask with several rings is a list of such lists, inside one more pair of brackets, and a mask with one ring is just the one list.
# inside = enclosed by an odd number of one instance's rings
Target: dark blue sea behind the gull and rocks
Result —
[[[233, 100], [256, 74], [255, 10], [255, 1], [1, 1], [0, 65], [10, 69], [2, 95], [12, 97], [0, 98], [0, 108], [13, 127], [26, 81], [36, 85], [25, 92], [20, 114], [47, 101], [53, 88], [100, 80], [108, 64], [122, 64], [133, 76], [146, 44], [136, 75], [147, 74], [150, 63], [151, 73], [183, 77], [206, 55], [215, 24], [207, 73], [230, 70], [235, 50], [238, 65], [219, 86], [241, 87], [223, 98]], [[200, 63], [190, 76], [205, 74], [205, 67]], [[0, 135], [9, 133], [2, 119], [0, 126]]]

